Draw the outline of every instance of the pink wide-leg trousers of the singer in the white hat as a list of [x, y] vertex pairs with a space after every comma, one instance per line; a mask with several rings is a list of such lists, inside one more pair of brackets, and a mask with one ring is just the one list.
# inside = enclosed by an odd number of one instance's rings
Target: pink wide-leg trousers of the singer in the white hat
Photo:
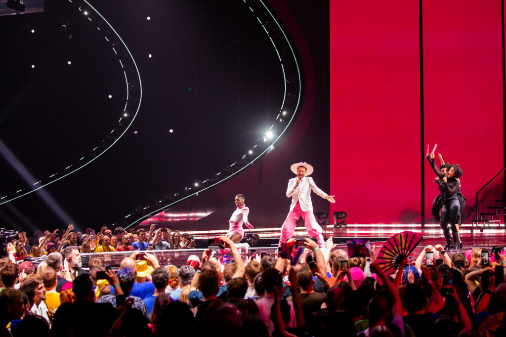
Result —
[[310, 237], [316, 237], [318, 240], [318, 245], [320, 247], [325, 246], [325, 240], [323, 239], [323, 229], [316, 222], [315, 216], [312, 211], [303, 212], [299, 202], [295, 204], [295, 207], [288, 213], [283, 226], [281, 227], [281, 237], [279, 238], [279, 244], [282, 245], [286, 242], [287, 239], [293, 236], [293, 231], [297, 226], [296, 221], [302, 217], [304, 220], [304, 226], [308, 230]]

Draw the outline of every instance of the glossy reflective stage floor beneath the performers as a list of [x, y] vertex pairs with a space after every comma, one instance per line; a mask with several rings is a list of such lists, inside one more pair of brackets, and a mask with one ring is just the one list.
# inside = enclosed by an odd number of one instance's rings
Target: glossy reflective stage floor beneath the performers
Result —
[[[411, 230], [413, 232], [420, 233], [424, 239], [415, 248], [414, 256], [416, 257], [420, 251], [427, 245], [444, 245], [443, 234], [441, 230], [437, 229], [412, 229], [412, 228], [389, 228], [389, 229], [364, 229], [364, 228], [347, 228], [338, 233], [326, 233], [326, 237], [330, 237], [333, 234], [332, 240], [338, 246], [337, 248], [346, 249], [346, 240], [349, 238], [364, 238], [371, 240], [371, 245], [375, 246], [375, 252], [378, 254], [379, 250], [383, 246], [383, 243], [392, 235], [402, 232], [404, 230]], [[218, 236], [222, 233], [213, 233], [209, 237]], [[268, 254], [274, 254], [277, 248], [277, 242], [279, 240], [279, 233], [262, 233], [259, 246], [252, 247], [256, 249], [257, 254], [262, 251], [267, 251]], [[487, 248], [490, 250], [492, 246], [506, 246], [506, 229], [485, 229], [483, 233], [474, 232], [471, 233], [469, 229], [463, 229], [460, 232], [460, 239], [462, 240], [462, 249], [460, 252], [465, 252], [467, 249], [474, 247]], [[298, 230], [296, 237], [307, 237], [307, 232], [304, 235], [303, 230]], [[203, 242], [203, 236], [200, 237], [200, 242]], [[206, 242], [206, 241], [205, 241]], [[198, 244], [197, 244], [198, 245]], [[150, 253], [156, 255], [161, 266], [175, 265], [181, 267], [186, 264], [190, 255], [202, 256], [202, 251], [206, 247], [198, 249], [176, 249], [176, 250], [150, 250]], [[111, 253], [100, 253], [100, 254], [81, 254], [83, 268], [88, 267], [88, 261], [93, 256], [100, 256], [104, 259], [104, 262], [109, 264], [114, 269], [119, 267], [119, 263], [125, 256], [131, 255], [131, 252], [111, 252]], [[221, 255], [217, 252], [216, 257], [219, 258]], [[246, 256], [244, 256], [244, 259]]]

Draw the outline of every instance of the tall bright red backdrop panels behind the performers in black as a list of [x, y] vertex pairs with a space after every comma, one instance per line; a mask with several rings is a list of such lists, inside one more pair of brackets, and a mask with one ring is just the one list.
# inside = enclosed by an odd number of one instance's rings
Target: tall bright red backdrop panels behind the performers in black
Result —
[[422, 115], [419, 2], [330, 2], [331, 213], [344, 210], [352, 224], [420, 223], [424, 189], [431, 222], [438, 190], [425, 162], [421, 182], [425, 143], [461, 165], [468, 201], [503, 167], [500, 8], [423, 1]]

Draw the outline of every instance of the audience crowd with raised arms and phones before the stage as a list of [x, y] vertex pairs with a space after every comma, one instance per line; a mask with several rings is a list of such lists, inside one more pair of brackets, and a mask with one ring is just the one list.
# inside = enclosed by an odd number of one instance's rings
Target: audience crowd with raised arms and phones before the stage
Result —
[[[191, 235], [154, 227], [83, 234], [72, 224], [30, 239], [21, 232], [0, 259], [0, 337], [506, 336], [503, 251], [482, 261], [479, 248], [450, 256], [429, 245], [385, 271], [331, 239], [324, 248], [306, 239], [291, 263], [241, 256], [221, 240], [230, 259], [206, 249], [183, 266], [160, 266], [139, 250], [191, 248]], [[100, 255], [82, 269], [82, 253], [128, 250], [117, 271]]]

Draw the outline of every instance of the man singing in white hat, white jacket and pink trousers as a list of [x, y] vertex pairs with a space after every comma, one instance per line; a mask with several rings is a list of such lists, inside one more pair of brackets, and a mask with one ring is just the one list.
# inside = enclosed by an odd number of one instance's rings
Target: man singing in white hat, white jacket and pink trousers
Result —
[[[304, 219], [304, 226], [308, 230], [310, 237], [316, 237], [318, 245], [325, 247], [325, 240], [323, 239], [323, 229], [316, 222], [313, 214], [313, 203], [311, 202], [311, 190], [322, 198], [327, 199], [329, 202], [334, 203], [334, 196], [328, 195], [320, 190], [313, 181], [313, 178], [308, 177], [313, 173], [313, 166], [305, 162], [294, 163], [290, 166], [291, 172], [297, 175], [288, 181], [288, 188], [286, 189], [286, 196], [291, 197], [290, 213], [281, 227], [281, 237], [279, 238], [279, 245], [282, 245], [286, 240], [293, 236], [293, 231], [296, 227], [296, 221], [302, 216]], [[305, 178], [306, 177], [306, 178]]]

